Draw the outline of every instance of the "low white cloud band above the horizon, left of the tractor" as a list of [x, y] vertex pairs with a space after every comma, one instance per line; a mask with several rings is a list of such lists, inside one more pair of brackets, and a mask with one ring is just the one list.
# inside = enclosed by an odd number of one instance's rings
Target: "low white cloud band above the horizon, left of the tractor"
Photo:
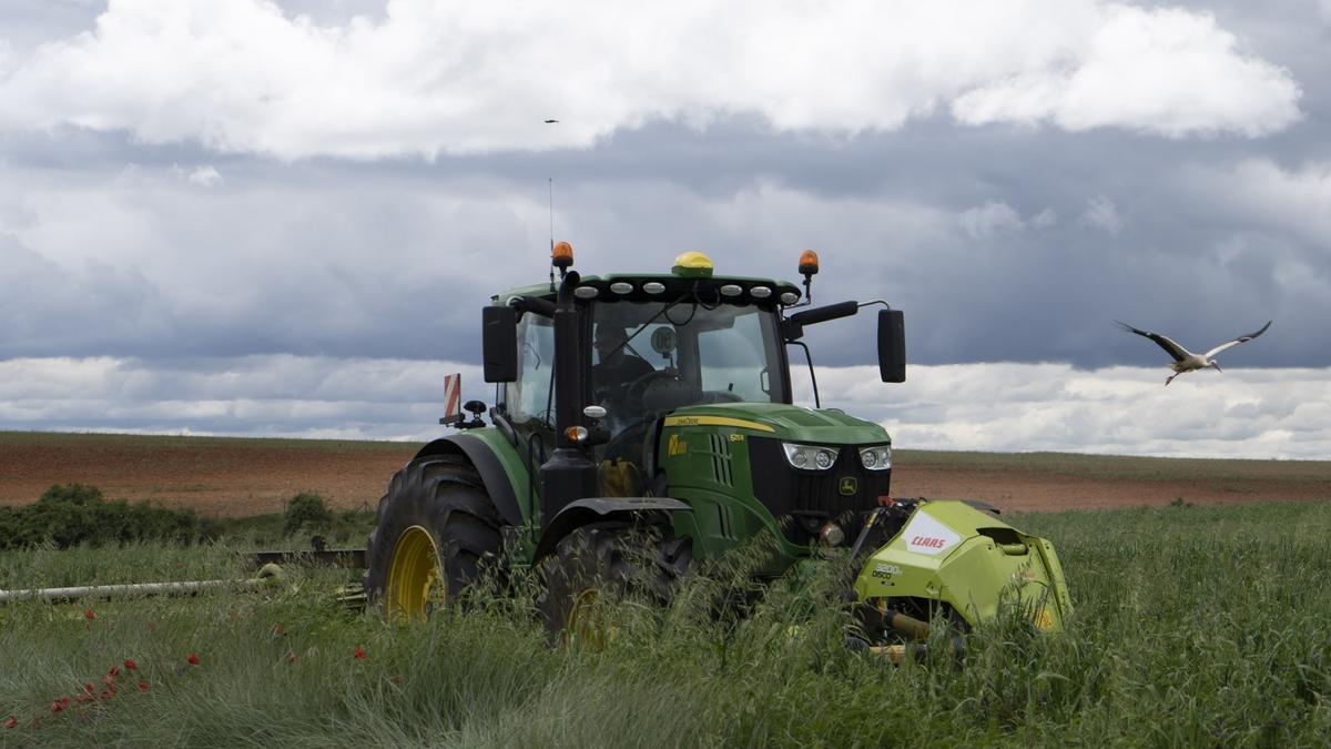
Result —
[[463, 400], [494, 400], [479, 367], [447, 361], [11, 359], [0, 429], [426, 440], [454, 372]]

